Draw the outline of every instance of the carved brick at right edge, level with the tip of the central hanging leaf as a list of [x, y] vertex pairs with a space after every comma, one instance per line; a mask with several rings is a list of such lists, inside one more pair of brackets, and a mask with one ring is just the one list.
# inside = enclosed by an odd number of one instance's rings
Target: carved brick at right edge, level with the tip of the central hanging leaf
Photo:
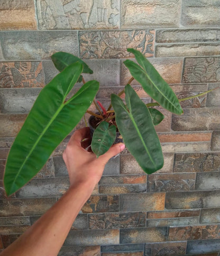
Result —
[[215, 172], [220, 170], [219, 153], [176, 153], [173, 172]]

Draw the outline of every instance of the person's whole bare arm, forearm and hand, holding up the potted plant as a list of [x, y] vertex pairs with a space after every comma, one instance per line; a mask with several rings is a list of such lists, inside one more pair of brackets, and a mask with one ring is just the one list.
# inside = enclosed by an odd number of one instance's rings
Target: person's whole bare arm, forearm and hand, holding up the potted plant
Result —
[[59, 253], [78, 212], [102, 177], [105, 164], [125, 147], [123, 143], [115, 144], [96, 158], [85, 149], [90, 141], [88, 127], [71, 136], [63, 152], [70, 179], [68, 191], [1, 256], [55, 256]]

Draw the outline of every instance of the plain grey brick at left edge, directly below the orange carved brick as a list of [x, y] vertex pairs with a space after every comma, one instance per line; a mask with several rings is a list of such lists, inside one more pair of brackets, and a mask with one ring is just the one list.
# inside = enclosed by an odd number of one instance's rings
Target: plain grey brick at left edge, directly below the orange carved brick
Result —
[[41, 89], [0, 89], [1, 113], [29, 113]]

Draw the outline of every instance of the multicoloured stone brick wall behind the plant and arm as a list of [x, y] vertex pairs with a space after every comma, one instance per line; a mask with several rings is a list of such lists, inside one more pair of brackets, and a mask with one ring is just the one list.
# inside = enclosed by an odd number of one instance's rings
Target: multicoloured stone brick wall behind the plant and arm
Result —
[[[14, 137], [56, 69], [63, 50], [89, 64], [109, 102], [130, 74], [133, 47], [149, 57], [179, 98], [220, 85], [219, 0], [1, 0], [0, 251], [68, 188], [61, 155], [12, 198], [3, 172]], [[135, 81], [139, 95], [149, 98]], [[220, 252], [220, 90], [182, 103], [184, 115], [162, 110], [157, 126], [165, 163], [146, 175], [124, 150], [110, 160], [77, 216], [60, 255], [218, 255]], [[94, 108], [93, 106], [91, 108]], [[83, 126], [80, 122], [78, 127]], [[65, 210], [65, 209], [63, 209]]]

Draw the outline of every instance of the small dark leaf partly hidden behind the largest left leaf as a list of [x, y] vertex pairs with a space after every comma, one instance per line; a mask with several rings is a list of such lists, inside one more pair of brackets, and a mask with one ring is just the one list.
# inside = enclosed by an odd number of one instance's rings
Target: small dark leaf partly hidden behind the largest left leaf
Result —
[[93, 71], [89, 69], [88, 65], [82, 61], [80, 58], [65, 52], [58, 52], [51, 56], [53, 64], [61, 72], [65, 67], [69, 66], [72, 63], [80, 62], [83, 65], [82, 73], [93, 74]]

